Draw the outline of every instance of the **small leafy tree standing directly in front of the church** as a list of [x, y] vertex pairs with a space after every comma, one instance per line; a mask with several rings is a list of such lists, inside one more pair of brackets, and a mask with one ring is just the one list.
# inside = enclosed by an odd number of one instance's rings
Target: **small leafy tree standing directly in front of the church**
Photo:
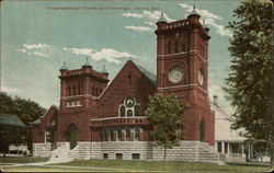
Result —
[[151, 127], [150, 136], [156, 146], [164, 148], [163, 159], [167, 158], [167, 149], [180, 146], [183, 132], [183, 106], [174, 95], [149, 96], [149, 104], [145, 111], [147, 120]]

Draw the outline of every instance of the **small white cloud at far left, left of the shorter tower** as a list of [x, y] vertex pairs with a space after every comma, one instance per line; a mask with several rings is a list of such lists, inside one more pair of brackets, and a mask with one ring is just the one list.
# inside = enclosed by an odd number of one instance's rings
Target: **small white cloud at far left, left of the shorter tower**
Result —
[[47, 53], [50, 51], [52, 46], [46, 44], [23, 44], [23, 48], [16, 49], [18, 51], [25, 53], [27, 55], [35, 55], [38, 57], [48, 57]]

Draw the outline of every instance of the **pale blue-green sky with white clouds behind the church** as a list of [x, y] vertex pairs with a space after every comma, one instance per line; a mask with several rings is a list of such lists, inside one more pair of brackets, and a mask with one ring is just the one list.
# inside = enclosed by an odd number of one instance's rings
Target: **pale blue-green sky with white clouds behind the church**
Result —
[[62, 62], [80, 69], [87, 57], [105, 66], [112, 80], [132, 59], [156, 73], [155, 23], [161, 12], [183, 20], [195, 4], [210, 31], [208, 90], [232, 111], [221, 88], [229, 72], [230, 30], [239, 1], [3, 1], [1, 2], [1, 91], [48, 108], [59, 104]]

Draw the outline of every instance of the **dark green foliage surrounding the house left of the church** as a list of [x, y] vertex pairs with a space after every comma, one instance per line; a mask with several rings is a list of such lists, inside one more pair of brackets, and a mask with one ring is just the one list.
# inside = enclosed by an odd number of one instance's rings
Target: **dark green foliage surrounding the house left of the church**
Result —
[[[26, 128], [3, 127], [1, 125], [0, 149], [7, 150], [10, 143], [27, 143], [32, 146], [31, 123], [44, 115], [46, 109], [31, 100], [19, 96], [11, 97], [4, 92], [0, 92], [0, 113], [18, 115], [25, 124]], [[2, 130], [3, 129], [3, 130]]]

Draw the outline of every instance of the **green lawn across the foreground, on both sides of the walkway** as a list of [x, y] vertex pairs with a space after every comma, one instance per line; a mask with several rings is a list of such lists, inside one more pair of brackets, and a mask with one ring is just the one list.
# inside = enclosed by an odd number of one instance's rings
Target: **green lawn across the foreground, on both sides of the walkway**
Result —
[[[2, 162], [4, 161], [4, 162]], [[265, 172], [270, 166], [218, 165], [174, 161], [75, 160], [50, 165], [9, 166], [8, 163], [44, 162], [44, 158], [4, 158], [0, 165], [5, 172]], [[3, 165], [5, 164], [5, 165]], [[11, 165], [11, 164], [10, 164]]]

